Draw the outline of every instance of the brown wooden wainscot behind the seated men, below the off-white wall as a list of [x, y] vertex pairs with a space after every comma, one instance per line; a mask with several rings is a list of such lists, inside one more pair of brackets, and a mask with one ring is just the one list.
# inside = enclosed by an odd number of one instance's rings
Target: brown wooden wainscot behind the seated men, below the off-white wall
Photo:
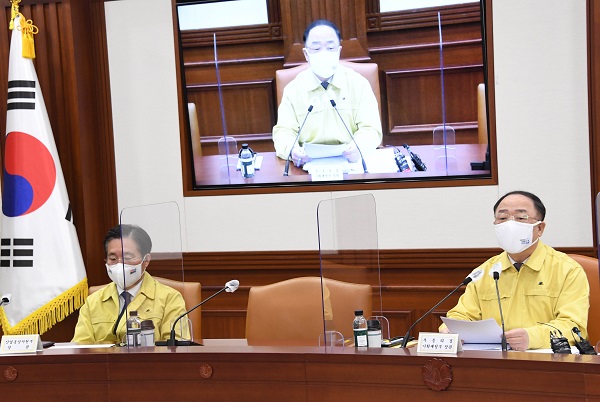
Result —
[[[595, 255], [593, 248], [560, 251]], [[498, 252], [498, 249], [380, 250], [381, 287], [375, 286], [373, 292], [381, 294], [382, 312], [390, 322], [392, 335], [404, 335], [414, 321], [450, 293], [471, 270]], [[202, 336], [243, 338], [250, 288], [300, 276], [319, 276], [319, 261], [318, 251], [185, 253], [184, 280], [200, 282], [203, 299], [221, 290], [231, 279], [240, 281], [236, 292], [222, 293], [201, 307]], [[154, 260], [149, 272], [182, 279], [180, 265], [167, 260]], [[107, 282], [103, 278], [97, 284]], [[437, 331], [439, 317], [456, 304], [462, 292], [461, 289], [446, 300], [413, 333]], [[379, 314], [376, 298], [374, 303], [373, 311]], [[76, 323], [77, 314], [72, 314], [43, 338], [69, 341]]]

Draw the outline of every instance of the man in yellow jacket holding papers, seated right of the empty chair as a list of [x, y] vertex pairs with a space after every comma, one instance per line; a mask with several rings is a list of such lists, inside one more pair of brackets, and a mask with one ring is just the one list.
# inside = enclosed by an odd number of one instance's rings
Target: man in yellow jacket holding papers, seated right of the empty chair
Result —
[[[479, 267], [484, 271], [482, 279], [467, 285], [448, 317], [469, 321], [494, 318], [501, 324], [490, 273], [497, 269], [506, 341], [511, 349], [549, 349], [550, 332], [557, 330], [573, 344], [574, 327], [587, 337], [587, 276], [572, 258], [540, 241], [545, 216], [542, 201], [526, 191], [512, 191], [496, 202], [494, 230], [504, 252]], [[442, 325], [440, 332], [448, 332], [448, 328]]]

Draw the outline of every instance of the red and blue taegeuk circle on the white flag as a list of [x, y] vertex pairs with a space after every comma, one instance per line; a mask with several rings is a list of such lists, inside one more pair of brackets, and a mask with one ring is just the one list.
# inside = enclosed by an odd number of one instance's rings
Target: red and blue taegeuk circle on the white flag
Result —
[[27, 215], [50, 198], [56, 184], [56, 166], [48, 148], [32, 135], [11, 131], [4, 147], [2, 212], [8, 217]]

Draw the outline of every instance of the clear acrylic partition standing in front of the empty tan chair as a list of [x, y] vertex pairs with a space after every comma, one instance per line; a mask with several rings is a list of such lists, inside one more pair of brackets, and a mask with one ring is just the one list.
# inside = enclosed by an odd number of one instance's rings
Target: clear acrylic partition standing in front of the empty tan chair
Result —
[[[383, 317], [377, 211], [371, 194], [324, 200], [317, 208], [323, 329], [320, 345], [338, 347], [354, 341], [354, 311], [381, 322], [389, 338], [389, 322]], [[350, 284], [368, 285], [372, 297]], [[363, 290], [368, 288], [363, 287]], [[327, 297], [329, 295], [329, 297]]]

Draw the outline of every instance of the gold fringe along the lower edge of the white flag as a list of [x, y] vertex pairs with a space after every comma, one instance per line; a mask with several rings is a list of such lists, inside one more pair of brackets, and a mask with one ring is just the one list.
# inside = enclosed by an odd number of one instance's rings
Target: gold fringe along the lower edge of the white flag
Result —
[[63, 292], [48, 303], [29, 314], [14, 327], [6, 319], [4, 310], [0, 311], [0, 324], [2, 332], [6, 335], [28, 335], [47, 332], [58, 322], [64, 320], [69, 314], [78, 310], [85, 303], [88, 295], [87, 278], [84, 278], [71, 289]]

